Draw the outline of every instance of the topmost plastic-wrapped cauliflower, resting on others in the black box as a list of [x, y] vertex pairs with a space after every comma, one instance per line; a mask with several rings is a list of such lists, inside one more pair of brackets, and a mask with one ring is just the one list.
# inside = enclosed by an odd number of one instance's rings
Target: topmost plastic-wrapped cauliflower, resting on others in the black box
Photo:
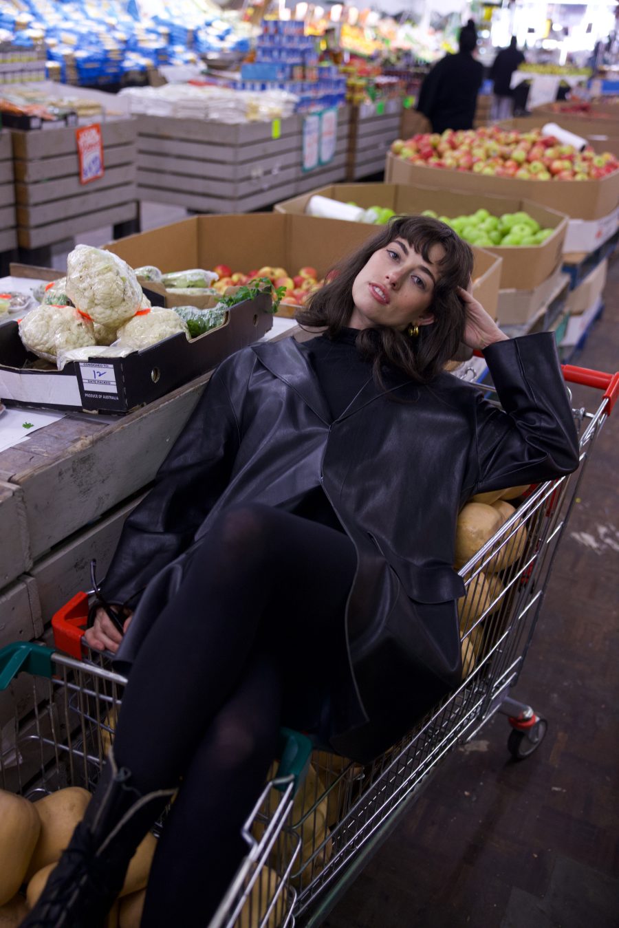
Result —
[[135, 315], [143, 296], [128, 264], [90, 245], [78, 245], [67, 258], [67, 293], [93, 322], [116, 328]]

